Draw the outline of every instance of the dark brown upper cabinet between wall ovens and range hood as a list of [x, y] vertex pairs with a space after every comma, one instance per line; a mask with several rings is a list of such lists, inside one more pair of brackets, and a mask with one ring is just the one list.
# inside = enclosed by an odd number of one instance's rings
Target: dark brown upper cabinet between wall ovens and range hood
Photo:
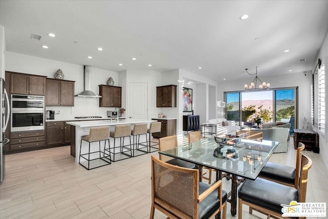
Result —
[[74, 83], [47, 78], [46, 105], [74, 106]]

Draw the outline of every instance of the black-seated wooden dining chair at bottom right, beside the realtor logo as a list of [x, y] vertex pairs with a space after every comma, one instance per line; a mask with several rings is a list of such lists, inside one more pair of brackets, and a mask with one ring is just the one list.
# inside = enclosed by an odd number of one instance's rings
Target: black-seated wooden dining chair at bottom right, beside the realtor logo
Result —
[[292, 201], [305, 202], [308, 172], [311, 166], [312, 160], [302, 154], [298, 189], [259, 177], [255, 181], [246, 180], [238, 191], [238, 219], [242, 219], [242, 205], [250, 207], [250, 214], [254, 209], [267, 214], [268, 218], [271, 216], [290, 218], [282, 217], [281, 204], [289, 206]]

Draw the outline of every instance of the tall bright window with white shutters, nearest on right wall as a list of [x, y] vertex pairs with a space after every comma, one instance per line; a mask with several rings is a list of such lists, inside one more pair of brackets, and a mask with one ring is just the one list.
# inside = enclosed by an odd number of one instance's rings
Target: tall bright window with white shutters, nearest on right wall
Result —
[[318, 107], [318, 129], [324, 134], [325, 129], [325, 74], [324, 65], [319, 68], [318, 72], [318, 92], [319, 92], [319, 107]]

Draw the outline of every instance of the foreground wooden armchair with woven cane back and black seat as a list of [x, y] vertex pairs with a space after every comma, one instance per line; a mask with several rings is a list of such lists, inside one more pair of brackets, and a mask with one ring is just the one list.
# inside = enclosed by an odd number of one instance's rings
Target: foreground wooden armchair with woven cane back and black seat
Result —
[[170, 218], [227, 218], [227, 192], [222, 181], [210, 186], [199, 182], [199, 170], [160, 161], [152, 155], [152, 206]]

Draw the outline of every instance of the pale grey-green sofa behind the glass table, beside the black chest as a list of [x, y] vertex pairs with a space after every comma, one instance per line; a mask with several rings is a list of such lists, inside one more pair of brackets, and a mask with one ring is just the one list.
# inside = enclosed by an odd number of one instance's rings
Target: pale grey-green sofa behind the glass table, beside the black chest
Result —
[[270, 140], [279, 142], [278, 147], [274, 153], [288, 152], [288, 138], [289, 138], [289, 128], [268, 128], [268, 129], [252, 129], [252, 132], [262, 132], [263, 140]]

